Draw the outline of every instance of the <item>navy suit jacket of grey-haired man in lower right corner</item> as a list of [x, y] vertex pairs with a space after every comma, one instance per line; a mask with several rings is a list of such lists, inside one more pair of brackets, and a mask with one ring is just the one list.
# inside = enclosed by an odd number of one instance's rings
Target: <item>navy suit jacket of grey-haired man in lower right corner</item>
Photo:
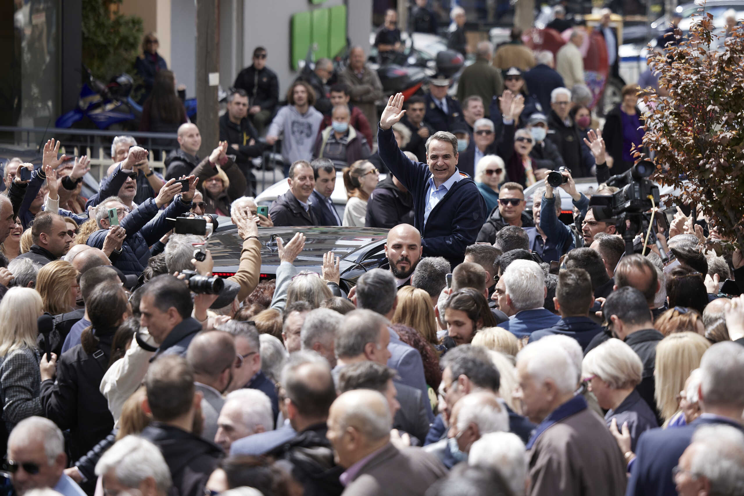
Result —
[[703, 414], [690, 425], [678, 428], [651, 429], [641, 434], [635, 450], [625, 496], [675, 496], [672, 468], [690, 445], [693, 433], [701, 425], [725, 424], [742, 429], [730, 419]]

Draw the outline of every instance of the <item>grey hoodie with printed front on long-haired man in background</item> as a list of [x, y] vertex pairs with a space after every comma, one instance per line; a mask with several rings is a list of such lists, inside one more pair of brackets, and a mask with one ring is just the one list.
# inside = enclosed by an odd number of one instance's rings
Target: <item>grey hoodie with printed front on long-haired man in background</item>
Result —
[[322, 121], [323, 115], [312, 106], [301, 114], [295, 106], [287, 105], [279, 109], [266, 135], [284, 134], [281, 154], [290, 164], [298, 160], [311, 161], [312, 148]]

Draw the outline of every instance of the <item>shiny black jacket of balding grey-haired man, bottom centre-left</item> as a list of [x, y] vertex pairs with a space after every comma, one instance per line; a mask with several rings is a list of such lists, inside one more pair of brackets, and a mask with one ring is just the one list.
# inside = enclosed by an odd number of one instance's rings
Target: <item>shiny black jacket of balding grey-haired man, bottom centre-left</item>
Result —
[[339, 496], [344, 492], [339, 482], [344, 468], [333, 461], [333, 447], [326, 437], [327, 432], [325, 422], [311, 425], [269, 452], [272, 457], [289, 462], [292, 477], [305, 489], [304, 496]]

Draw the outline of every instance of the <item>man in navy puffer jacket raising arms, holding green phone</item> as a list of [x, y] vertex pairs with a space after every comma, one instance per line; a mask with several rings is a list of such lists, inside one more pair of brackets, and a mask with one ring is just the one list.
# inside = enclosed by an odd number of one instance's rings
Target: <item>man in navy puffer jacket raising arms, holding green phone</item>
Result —
[[[115, 247], [109, 254], [109, 258], [112, 259], [113, 265], [124, 274], [138, 276], [147, 267], [147, 260], [151, 256], [150, 245], [170, 231], [171, 227], [167, 218], [178, 217], [190, 210], [198, 179], [194, 175], [190, 175], [187, 179], [188, 191], [179, 193], [182, 188], [181, 183], [174, 183], [176, 180], [170, 179], [155, 199], [145, 200], [132, 213], [126, 213], [124, 202], [117, 196], [110, 196], [103, 200], [95, 210], [95, 219], [100, 230], [92, 233], [86, 244], [101, 248], [106, 252], [104, 245], [106, 238], [109, 237], [107, 236], [109, 229], [115, 231], [115, 240], [121, 244]], [[166, 207], [162, 215], [158, 216], [158, 210], [170, 202], [174, 196], [174, 201]], [[119, 228], [109, 224], [109, 208], [117, 210]]]

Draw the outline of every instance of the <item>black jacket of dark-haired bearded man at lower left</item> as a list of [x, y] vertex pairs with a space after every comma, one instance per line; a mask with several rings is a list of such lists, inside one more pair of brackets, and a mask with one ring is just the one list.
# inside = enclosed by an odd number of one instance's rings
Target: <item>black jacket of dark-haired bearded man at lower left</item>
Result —
[[219, 446], [161, 422], [152, 422], [140, 435], [160, 448], [170, 468], [170, 496], [204, 496], [209, 475], [225, 454]]

